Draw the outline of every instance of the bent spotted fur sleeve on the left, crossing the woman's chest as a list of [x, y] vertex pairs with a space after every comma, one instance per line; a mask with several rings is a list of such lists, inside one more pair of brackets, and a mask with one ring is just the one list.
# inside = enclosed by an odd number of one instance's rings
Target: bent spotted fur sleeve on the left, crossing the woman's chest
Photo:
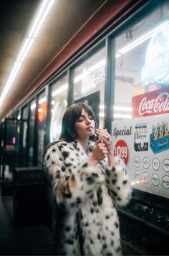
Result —
[[47, 149], [44, 155], [44, 169], [52, 183], [53, 194], [62, 207], [79, 207], [89, 198], [97, 185], [105, 179], [100, 169], [88, 160], [82, 161], [73, 171], [64, 161], [63, 153], [57, 144]]

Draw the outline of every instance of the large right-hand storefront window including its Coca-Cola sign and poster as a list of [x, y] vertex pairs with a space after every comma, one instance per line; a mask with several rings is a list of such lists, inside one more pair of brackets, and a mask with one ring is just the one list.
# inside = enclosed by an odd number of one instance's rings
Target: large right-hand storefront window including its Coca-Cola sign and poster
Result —
[[115, 155], [132, 186], [169, 198], [169, 2], [115, 39]]

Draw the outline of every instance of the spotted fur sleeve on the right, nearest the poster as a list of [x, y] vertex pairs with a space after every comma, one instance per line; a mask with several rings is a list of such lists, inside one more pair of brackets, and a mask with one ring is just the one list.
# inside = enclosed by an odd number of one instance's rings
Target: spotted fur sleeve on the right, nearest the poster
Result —
[[105, 175], [108, 193], [117, 205], [123, 206], [129, 202], [131, 196], [131, 184], [127, 169], [122, 159], [115, 158], [117, 166], [106, 166]]

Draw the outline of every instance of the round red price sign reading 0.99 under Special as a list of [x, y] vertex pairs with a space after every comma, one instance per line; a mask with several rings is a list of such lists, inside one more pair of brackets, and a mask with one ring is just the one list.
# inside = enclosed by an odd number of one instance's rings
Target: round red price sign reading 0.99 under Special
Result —
[[129, 151], [125, 141], [117, 141], [117, 143], [115, 144], [114, 154], [115, 156], [120, 156], [120, 158], [122, 158], [122, 160], [124, 161], [125, 165], [127, 165]]

